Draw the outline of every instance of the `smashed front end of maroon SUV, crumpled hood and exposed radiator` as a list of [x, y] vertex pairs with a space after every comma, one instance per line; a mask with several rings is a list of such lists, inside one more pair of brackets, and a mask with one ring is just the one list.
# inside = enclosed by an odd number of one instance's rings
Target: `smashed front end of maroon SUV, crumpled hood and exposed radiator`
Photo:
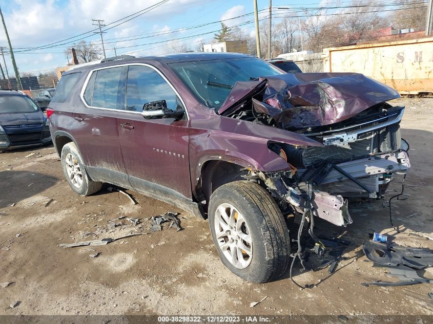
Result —
[[381, 199], [393, 174], [410, 168], [401, 138], [399, 94], [352, 73], [285, 74], [237, 82], [218, 113], [302, 134], [322, 145], [269, 141], [290, 170], [250, 171], [282, 208], [313, 214], [335, 225], [352, 223], [347, 198]]

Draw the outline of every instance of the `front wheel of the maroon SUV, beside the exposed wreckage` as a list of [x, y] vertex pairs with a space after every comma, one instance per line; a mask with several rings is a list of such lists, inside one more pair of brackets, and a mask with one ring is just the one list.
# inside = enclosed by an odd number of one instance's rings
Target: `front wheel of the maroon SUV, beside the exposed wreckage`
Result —
[[290, 264], [288, 229], [277, 204], [260, 185], [235, 181], [218, 187], [212, 193], [208, 215], [219, 257], [234, 274], [265, 283], [286, 272]]

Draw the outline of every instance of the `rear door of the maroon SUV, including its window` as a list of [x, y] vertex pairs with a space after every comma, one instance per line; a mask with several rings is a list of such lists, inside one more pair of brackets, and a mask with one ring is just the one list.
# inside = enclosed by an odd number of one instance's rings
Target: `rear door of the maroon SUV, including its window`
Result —
[[125, 110], [128, 68], [93, 71], [81, 92], [84, 104], [75, 107], [71, 132], [93, 180], [129, 186], [122, 160], [117, 116]]

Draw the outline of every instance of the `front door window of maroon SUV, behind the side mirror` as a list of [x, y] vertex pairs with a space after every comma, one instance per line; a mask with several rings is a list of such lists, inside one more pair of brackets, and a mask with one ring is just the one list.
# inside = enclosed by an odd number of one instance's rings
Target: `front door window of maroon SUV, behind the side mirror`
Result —
[[154, 69], [130, 66], [126, 88], [126, 109], [142, 112], [146, 104], [164, 106], [168, 110], [180, 109], [180, 101], [166, 80]]

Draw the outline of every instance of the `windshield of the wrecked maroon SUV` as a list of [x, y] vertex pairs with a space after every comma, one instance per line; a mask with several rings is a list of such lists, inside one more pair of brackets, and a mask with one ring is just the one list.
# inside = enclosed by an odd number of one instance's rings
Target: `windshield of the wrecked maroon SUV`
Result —
[[219, 108], [236, 81], [283, 74], [256, 57], [172, 63], [170, 67], [205, 106]]

